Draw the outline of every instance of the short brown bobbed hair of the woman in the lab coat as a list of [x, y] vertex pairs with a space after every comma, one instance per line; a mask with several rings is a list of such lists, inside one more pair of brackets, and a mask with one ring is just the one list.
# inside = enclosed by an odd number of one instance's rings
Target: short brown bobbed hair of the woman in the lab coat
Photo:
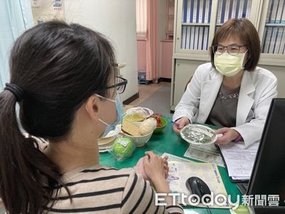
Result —
[[[248, 19], [229, 19], [229, 21], [225, 22], [217, 30], [212, 41], [212, 46], [217, 45], [219, 41], [227, 39], [227, 37], [231, 35], [239, 37], [239, 39], [247, 45], [247, 57], [249, 57], [249, 59], [244, 65], [244, 70], [254, 71], [257, 67], [261, 53], [260, 39], [257, 29], [255, 29], [252, 22]], [[212, 51], [212, 47], [210, 47], [210, 55], [212, 66], [214, 66], [214, 53]]]

